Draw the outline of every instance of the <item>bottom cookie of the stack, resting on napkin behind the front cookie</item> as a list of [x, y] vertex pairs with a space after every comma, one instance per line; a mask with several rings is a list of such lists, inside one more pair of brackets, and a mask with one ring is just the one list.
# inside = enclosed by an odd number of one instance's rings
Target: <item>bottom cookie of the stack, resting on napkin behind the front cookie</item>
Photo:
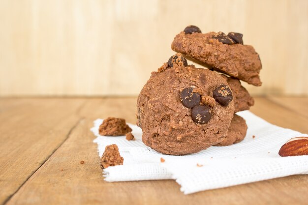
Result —
[[228, 129], [228, 134], [224, 140], [215, 146], [229, 146], [244, 140], [246, 136], [247, 125], [243, 117], [234, 114]]

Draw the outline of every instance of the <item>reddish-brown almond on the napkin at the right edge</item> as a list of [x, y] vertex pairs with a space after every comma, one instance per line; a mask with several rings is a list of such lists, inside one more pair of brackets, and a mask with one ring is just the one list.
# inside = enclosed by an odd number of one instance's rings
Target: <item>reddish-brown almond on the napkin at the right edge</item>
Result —
[[308, 155], [308, 137], [295, 137], [281, 146], [278, 154], [282, 157]]

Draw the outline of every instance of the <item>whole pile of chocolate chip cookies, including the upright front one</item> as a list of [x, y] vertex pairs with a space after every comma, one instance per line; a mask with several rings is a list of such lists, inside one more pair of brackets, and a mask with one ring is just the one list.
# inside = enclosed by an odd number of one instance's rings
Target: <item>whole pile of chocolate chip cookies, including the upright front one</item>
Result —
[[[229, 146], [246, 136], [253, 98], [240, 80], [261, 86], [261, 61], [241, 33], [202, 33], [188, 26], [172, 42], [176, 53], [152, 72], [137, 101], [137, 125], [145, 145], [184, 155]], [[190, 59], [205, 68], [188, 65]]]

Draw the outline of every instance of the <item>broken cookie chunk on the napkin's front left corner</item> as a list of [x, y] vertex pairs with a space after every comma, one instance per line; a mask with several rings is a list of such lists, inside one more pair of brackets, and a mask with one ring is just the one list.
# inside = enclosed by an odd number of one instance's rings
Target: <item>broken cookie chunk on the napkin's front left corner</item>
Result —
[[108, 145], [100, 160], [100, 167], [105, 169], [109, 166], [123, 165], [123, 157], [120, 155], [117, 145]]

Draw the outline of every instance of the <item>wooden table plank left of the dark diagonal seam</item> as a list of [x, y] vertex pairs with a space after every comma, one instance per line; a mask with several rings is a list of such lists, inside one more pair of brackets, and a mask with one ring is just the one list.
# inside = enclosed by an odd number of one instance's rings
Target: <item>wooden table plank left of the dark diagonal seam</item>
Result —
[[0, 99], [0, 204], [65, 141], [84, 99]]

